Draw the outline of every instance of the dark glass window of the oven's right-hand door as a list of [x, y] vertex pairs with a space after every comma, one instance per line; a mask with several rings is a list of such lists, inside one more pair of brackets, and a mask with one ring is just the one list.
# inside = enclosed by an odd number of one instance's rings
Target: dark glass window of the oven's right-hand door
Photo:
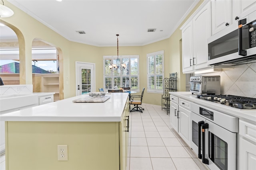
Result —
[[228, 169], [228, 143], [209, 131], [209, 158], [221, 170]]

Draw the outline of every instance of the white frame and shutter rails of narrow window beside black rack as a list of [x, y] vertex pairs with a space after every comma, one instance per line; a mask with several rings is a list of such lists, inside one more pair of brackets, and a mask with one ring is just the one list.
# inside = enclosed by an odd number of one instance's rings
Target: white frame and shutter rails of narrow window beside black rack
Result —
[[[157, 74], [156, 73], [156, 56], [157, 55], [162, 55], [162, 73], [161, 74]], [[154, 57], [154, 74], [149, 74], [149, 57]], [[164, 50], [162, 51], [156, 51], [153, 53], [148, 53], [147, 54], [147, 92], [150, 93], [162, 93], [163, 92], [163, 80], [164, 80]], [[156, 88], [156, 83], [154, 84], [154, 88], [149, 88], [150, 84], [149, 84], [149, 78], [150, 77], [154, 77], [154, 82], [156, 81], [157, 76], [162, 76], [162, 88], [161, 89], [157, 89]]]

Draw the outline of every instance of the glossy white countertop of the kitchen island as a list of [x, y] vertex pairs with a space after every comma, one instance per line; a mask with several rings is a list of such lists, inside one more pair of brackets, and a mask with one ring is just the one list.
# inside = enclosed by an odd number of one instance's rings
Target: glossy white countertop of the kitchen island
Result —
[[[103, 103], [73, 103], [85, 95], [1, 115], [1, 121], [121, 121], [128, 93], [111, 93]], [[88, 96], [88, 95], [86, 95]]]

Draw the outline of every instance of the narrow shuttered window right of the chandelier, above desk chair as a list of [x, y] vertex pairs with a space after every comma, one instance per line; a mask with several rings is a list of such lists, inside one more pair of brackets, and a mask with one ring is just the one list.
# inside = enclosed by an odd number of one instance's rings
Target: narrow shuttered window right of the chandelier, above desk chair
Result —
[[148, 92], [163, 92], [164, 51], [147, 54]]

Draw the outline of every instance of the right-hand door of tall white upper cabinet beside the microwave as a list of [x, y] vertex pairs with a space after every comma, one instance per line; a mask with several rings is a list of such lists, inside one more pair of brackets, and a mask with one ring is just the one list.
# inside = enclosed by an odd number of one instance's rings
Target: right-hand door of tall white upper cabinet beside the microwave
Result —
[[210, 2], [204, 6], [200, 12], [193, 18], [193, 47], [195, 64], [194, 70], [207, 68], [208, 43], [207, 39], [211, 35], [210, 29]]

